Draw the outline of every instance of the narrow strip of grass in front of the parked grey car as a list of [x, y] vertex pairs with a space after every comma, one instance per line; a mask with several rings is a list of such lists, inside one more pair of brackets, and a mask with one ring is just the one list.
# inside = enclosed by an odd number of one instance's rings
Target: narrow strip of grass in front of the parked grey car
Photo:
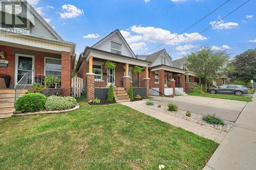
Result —
[[218, 99], [229, 99], [234, 101], [244, 101], [244, 102], [251, 102], [252, 97], [250, 96], [237, 96], [237, 95], [228, 95], [228, 94], [211, 94], [211, 93], [196, 93], [196, 92], [190, 92], [188, 95], [196, 95], [201, 97], [207, 97], [207, 98], [218, 98]]

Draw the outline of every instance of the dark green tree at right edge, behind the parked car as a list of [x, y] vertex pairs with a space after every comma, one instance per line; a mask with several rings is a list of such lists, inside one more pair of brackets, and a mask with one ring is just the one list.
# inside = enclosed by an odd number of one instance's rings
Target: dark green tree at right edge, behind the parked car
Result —
[[256, 79], [256, 49], [247, 50], [234, 57], [232, 61], [233, 71], [229, 76], [234, 80], [241, 80], [247, 83]]

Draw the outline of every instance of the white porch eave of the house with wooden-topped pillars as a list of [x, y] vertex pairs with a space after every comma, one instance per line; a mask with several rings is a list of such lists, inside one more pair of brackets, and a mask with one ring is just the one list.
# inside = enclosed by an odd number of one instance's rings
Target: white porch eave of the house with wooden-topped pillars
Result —
[[87, 61], [89, 60], [89, 57], [92, 56], [97, 59], [110, 60], [110, 61], [119, 62], [119, 63], [129, 63], [131, 65], [138, 65], [141, 67], [147, 67], [148, 64], [150, 64], [150, 62], [145, 60], [140, 60], [137, 58], [127, 57], [122, 55], [116, 55], [114, 53], [105, 52], [92, 47], [88, 47], [87, 49], [88, 50], [86, 50], [83, 56], [86, 58]]

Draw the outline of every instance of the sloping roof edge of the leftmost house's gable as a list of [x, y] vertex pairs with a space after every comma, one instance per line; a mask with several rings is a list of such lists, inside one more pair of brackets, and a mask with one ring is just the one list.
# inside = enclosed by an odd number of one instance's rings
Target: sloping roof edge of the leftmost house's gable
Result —
[[[24, 1], [22, 1], [24, 3]], [[27, 0], [26, 0], [27, 2]], [[30, 9], [30, 12], [35, 15], [35, 17], [37, 17], [41, 22], [42, 24], [58, 39], [58, 40], [63, 40], [59, 35], [58, 33], [49, 25], [49, 23], [47, 23], [47, 21], [41, 16], [38, 14], [38, 12], [27, 2], [27, 3], [24, 3], [25, 5], [27, 5], [27, 8]], [[36, 26], [35, 26], [36, 27]]]

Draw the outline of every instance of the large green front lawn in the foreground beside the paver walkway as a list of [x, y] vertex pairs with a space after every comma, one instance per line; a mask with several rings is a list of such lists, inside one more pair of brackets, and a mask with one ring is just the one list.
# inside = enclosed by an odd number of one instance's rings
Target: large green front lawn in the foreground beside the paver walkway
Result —
[[218, 147], [120, 104], [80, 104], [69, 113], [1, 120], [0, 169], [202, 169]]

